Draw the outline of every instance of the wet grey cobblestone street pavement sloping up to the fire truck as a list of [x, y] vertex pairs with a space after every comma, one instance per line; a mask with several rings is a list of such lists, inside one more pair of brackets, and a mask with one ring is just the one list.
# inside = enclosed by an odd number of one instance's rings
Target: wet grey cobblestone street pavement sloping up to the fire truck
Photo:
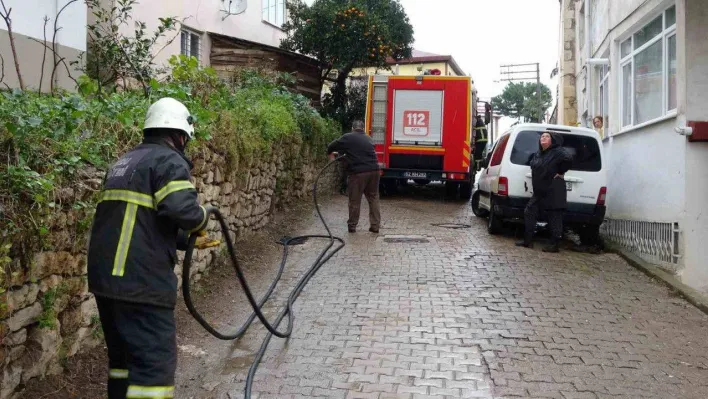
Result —
[[[346, 233], [344, 197], [324, 207], [347, 246], [298, 300], [292, 338], [273, 339], [254, 397], [708, 398], [708, 316], [616, 255], [519, 249], [427, 197], [385, 199], [379, 236]], [[295, 250], [284, 284], [319, 245]], [[188, 397], [242, 397], [258, 327]]]

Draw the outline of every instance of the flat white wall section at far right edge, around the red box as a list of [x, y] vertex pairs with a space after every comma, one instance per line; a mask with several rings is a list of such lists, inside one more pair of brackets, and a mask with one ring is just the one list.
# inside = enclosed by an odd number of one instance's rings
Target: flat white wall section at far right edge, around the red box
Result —
[[[683, 2], [682, 2], [683, 3]], [[684, 4], [682, 4], [684, 5]], [[677, 7], [679, 26], [679, 124], [685, 120], [708, 121], [708, 2], [686, 0]], [[681, 78], [681, 74], [685, 78]], [[682, 95], [682, 93], [685, 93]], [[681, 137], [682, 140], [686, 140]], [[684, 264], [682, 280], [708, 292], [708, 143], [686, 141], [686, 218], [683, 222]]]

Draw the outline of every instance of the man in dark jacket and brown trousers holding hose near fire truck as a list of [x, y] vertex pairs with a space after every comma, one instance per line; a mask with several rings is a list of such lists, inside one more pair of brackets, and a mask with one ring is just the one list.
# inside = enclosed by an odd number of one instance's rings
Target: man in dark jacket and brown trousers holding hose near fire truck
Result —
[[346, 173], [348, 177], [347, 193], [349, 194], [349, 232], [356, 232], [361, 211], [361, 196], [366, 196], [369, 203], [369, 231], [378, 233], [381, 226], [381, 211], [379, 207], [379, 163], [376, 158], [374, 143], [364, 132], [364, 123], [354, 121], [353, 132], [347, 133], [333, 141], [327, 147], [330, 156], [341, 153], [346, 155]]

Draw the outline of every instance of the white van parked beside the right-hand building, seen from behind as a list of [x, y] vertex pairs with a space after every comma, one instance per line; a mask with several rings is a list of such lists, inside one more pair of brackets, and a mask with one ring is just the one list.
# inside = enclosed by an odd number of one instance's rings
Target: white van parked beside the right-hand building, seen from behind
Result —
[[605, 218], [607, 176], [600, 135], [591, 129], [535, 123], [512, 127], [482, 161], [485, 169], [472, 196], [472, 210], [479, 217], [488, 216], [490, 234], [498, 234], [506, 222], [523, 223], [524, 208], [533, 194], [528, 165], [546, 131], [560, 134], [563, 148], [573, 155], [573, 166], [565, 174], [564, 227], [578, 233], [583, 243], [594, 244]]

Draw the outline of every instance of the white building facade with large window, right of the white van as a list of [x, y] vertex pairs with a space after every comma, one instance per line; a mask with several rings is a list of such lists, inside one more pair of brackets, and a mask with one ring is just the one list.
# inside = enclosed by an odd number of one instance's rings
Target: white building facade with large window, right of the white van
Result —
[[604, 118], [604, 232], [708, 292], [708, 1], [574, 7], [578, 121]]

